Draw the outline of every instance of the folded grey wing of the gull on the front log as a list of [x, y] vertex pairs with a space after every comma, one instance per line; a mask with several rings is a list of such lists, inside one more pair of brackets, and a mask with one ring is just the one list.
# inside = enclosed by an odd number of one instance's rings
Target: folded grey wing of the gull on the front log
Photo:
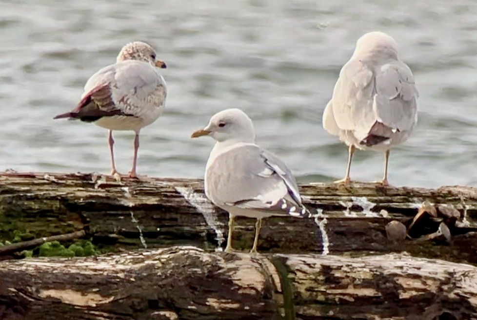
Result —
[[241, 145], [219, 154], [206, 170], [205, 184], [207, 197], [219, 206], [309, 215], [290, 170], [257, 145]]

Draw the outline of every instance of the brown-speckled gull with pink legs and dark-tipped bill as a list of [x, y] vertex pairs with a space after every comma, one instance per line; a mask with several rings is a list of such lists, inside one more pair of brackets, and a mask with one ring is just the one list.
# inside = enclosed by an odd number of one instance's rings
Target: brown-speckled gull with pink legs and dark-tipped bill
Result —
[[165, 68], [166, 64], [156, 59], [156, 52], [149, 44], [128, 43], [122, 47], [115, 64], [102, 68], [86, 82], [76, 108], [54, 118], [79, 119], [109, 129], [113, 176], [120, 176], [114, 161], [113, 130], [131, 130], [136, 137], [129, 177], [138, 177], [139, 131], [156, 121], [165, 107], [167, 87], [158, 67]]

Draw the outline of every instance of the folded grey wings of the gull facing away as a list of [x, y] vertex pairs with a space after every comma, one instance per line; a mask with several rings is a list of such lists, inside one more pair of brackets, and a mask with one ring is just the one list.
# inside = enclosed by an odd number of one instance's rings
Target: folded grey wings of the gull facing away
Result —
[[333, 91], [334, 119], [358, 139], [410, 130], [416, 123], [417, 89], [409, 67], [398, 60], [370, 65], [348, 61]]

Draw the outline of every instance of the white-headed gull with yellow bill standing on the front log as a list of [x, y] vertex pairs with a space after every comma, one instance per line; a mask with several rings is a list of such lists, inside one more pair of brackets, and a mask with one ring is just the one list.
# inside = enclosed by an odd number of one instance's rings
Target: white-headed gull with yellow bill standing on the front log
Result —
[[310, 217], [292, 173], [275, 155], [255, 144], [252, 120], [243, 111], [220, 111], [191, 138], [200, 136], [217, 141], [207, 160], [204, 186], [207, 198], [229, 213], [226, 252], [232, 251], [236, 216], [257, 219], [253, 253], [263, 218]]

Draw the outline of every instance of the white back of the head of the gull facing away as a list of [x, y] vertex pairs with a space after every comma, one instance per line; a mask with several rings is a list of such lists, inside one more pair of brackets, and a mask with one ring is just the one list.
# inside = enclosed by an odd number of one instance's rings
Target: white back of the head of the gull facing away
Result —
[[377, 56], [397, 59], [397, 43], [384, 32], [368, 32], [356, 41], [353, 56]]

